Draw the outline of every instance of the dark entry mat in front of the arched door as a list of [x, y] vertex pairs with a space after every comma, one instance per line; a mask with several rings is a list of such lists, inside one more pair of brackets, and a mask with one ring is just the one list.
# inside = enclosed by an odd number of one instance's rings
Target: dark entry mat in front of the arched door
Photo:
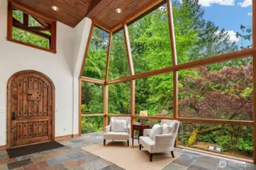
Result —
[[39, 153], [46, 150], [53, 150], [58, 147], [65, 147], [65, 146], [62, 144], [59, 144], [58, 142], [50, 141], [42, 144], [33, 144], [25, 147], [11, 148], [6, 151], [8, 153], [9, 158], [16, 158], [18, 156], [29, 155], [32, 153]]

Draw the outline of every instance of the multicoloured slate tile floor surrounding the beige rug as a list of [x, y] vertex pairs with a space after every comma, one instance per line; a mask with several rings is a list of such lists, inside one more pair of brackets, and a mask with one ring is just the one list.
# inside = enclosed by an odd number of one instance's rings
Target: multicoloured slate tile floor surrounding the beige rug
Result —
[[[103, 134], [89, 134], [79, 138], [58, 141], [65, 145], [55, 150], [46, 150], [27, 156], [9, 159], [5, 150], [0, 151], [0, 170], [122, 170], [118, 165], [81, 150], [91, 144], [103, 142]], [[232, 159], [195, 153], [175, 148], [181, 156], [163, 170], [256, 170], [256, 165]], [[223, 166], [222, 166], [223, 165]], [[141, 169], [147, 170], [147, 169]]]

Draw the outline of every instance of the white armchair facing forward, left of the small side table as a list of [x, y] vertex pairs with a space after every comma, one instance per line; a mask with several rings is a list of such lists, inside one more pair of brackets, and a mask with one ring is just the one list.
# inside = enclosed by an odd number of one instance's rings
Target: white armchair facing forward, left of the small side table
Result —
[[121, 140], [127, 141], [127, 145], [129, 147], [130, 133], [130, 117], [111, 117], [109, 125], [105, 127], [105, 134], [103, 134], [103, 144], [105, 146], [106, 140]]

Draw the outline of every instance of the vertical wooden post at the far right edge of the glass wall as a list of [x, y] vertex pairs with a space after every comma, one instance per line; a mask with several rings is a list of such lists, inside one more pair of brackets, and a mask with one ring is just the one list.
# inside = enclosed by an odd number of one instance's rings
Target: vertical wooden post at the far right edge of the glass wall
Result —
[[[252, 0], [252, 48], [256, 48], [256, 2]], [[253, 54], [253, 136], [254, 136], [254, 164], [256, 164], [256, 52]]]

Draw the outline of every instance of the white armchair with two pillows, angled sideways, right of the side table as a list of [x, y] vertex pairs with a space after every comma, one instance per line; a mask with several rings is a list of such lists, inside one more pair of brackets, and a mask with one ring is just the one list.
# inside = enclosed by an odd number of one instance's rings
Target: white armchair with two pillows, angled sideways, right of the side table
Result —
[[[165, 128], [163, 130], [163, 126], [168, 126], [169, 129]], [[172, 157], [175, 157], [173, 153], [175, 139], [179, 128], [182, 131], [182, 127], [179, 126], [182, 126], [182, 124], [177, 120], [163, 119], [160, 124], [160, 134], [156, 134], [154, 138], [150, 136], [151, 129], [144, 129], [144, 136], [140, 137], [140, 150], [143, 147], [150, 153], [150, 162], [152, 162], [153, 153], [171, 152]]]

